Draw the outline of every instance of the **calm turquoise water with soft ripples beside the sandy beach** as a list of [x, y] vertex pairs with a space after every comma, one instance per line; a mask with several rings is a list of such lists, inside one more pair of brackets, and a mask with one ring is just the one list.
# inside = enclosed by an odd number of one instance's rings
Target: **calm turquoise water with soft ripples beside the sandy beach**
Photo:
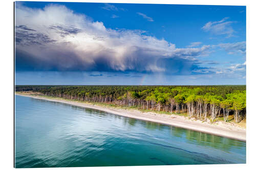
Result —
[[246, 143], [15, 95], [15, 167], [246, 163]]

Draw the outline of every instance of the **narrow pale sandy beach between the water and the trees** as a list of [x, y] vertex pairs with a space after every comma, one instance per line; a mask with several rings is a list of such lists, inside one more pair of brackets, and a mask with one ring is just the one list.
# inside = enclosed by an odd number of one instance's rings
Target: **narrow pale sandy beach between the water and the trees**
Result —
[[207, 134], [222, 136], [226, 138], [246, 141], [246, 129], [245, 128], [239, 128], [237, 126], [231, 126], [229, 124], [226, 124], [224, 122], [218, 122], [215, 124], [210, 124], [208, 122], [202, 122], [202, 120], [192, 120], [188, 119], [184, 116], [172, 114], [157, 114], [153, 112], [141, 112], [139, 110], [125, 110], [125, 109], [119, 109], [119, 108], [109, 108], [105, 106], [97, 106], [93, 104], [88, 103], [82, 103], [82, 102], [76, 102], [76, 101], [67, 101], [65, 99], [57, 98], [57, 99], [48, 99], [44, 98], [42, 96], [33, 96], [30, 94], [18, 94], [15, 93], [15, 95], [22, 95], [29, 98], [34, 99], [41, 99], [41, 100], [47, 100], [52, 102], [59, 102], [59, 103], [66, 103], [73, 106], [79, 106], [84, 108], [90, 108], [95, 110], [101, 110], [108, 113], [129, 117], [129, 118], [135, 118], [140, 119], [144, 121], [159, 123], [167, 126], [175, 126], [179, 128], [184, 129], [190, 129], [198, 132], [203, 132]]

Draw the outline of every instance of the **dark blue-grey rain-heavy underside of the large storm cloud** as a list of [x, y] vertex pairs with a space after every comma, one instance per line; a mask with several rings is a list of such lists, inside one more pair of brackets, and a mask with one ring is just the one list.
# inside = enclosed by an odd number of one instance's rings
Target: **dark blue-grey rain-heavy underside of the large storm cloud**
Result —
[[[136, 50], [134, 50], [136, 49]], [[145, 50], [145, 49], [144, 49]], [[166, 72], [166, 74], [189, 74], [197, 65], [192, 60], [179, 57], [163, 58], [154, 54], [145, 53], [139, 47], [133, 47], [133, 53], [124, 58], [122, 65], [125, 70], [118, 69], [119, 62], [114, 63], [111, 53], [102, 53], [94, 58], [93, 63], [83, 61], [73, 51], [43, 50], [44, 56], [32, 55], [22, 50], [16, 50], [17, 70], [59, 70], [59, 71], [106, 71], [106, 72]], [[90, 54], [87, 54], [90, 56]], [[154, 71], [153, 71], [154, 70]]]

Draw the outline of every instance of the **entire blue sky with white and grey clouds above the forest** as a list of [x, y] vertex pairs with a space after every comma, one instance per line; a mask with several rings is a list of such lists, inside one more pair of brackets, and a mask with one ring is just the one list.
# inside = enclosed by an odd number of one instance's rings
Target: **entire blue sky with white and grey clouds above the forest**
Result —
[[16, 85], [246, 84], [246, 7], [15, 2]]

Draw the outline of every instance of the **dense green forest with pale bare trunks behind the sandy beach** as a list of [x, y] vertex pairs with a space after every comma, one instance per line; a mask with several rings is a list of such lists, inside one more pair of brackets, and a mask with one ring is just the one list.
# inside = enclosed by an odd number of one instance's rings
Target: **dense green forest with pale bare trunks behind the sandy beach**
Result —
[[32, 91], [58, 98], [115, 104], [169, 114], [187, 113], [214, 121], [233, 115], [246, 118], [246, 86], [39, 86], [18, 85], [16, 91]]

